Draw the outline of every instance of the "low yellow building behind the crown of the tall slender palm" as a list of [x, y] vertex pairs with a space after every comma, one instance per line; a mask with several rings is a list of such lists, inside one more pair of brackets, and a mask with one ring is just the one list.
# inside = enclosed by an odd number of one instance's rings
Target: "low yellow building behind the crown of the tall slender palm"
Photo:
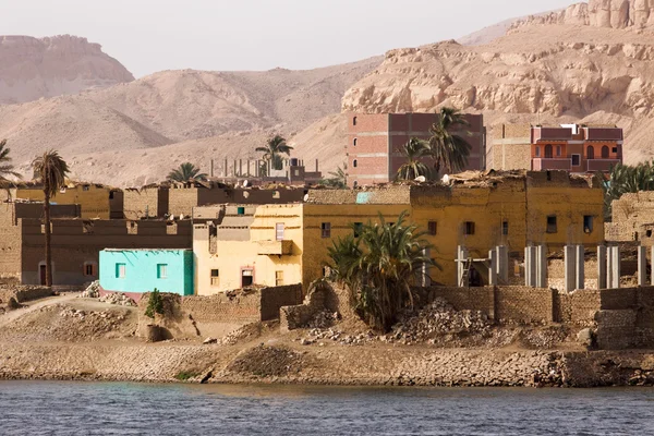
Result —
[[[43, 186], [36, 183], [19, 184], [11, 190], [16, 199], [44, 201]], [[82, 218], [123, 218], [122, 191], [95, 183], [69, 183], [50, 201], [52, 204], [78, 204]]]

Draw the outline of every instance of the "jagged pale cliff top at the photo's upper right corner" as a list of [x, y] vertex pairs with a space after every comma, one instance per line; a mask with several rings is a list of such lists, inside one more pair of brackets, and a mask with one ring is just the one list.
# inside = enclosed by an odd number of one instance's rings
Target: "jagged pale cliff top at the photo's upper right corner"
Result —
[[513, 24], [576, 24], [607, 28], [654, 26], [654, 0], [590, 0], [546, 15], [530, 16]]

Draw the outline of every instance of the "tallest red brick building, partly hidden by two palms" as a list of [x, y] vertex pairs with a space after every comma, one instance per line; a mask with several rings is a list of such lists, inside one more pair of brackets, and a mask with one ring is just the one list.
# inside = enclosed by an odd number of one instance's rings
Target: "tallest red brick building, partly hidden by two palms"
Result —
[[[348, 185], [387, 183], [404, 164], [400, 149], [412, 137], [428, 140], [438, 113], [350, 113], [348, 114]], [[465, 170], [486, 167], [484, 118], [467, 114], [472, 149]]]

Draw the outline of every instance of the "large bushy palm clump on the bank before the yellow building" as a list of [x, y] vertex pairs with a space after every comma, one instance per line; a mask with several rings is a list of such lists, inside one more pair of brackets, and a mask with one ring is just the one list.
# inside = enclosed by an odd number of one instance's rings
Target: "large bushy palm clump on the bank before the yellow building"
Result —
[[412, 286], [436, 266], [426, 255], [432, 245], [423, 239], [425, 232], [407, 225], [405, 217], [404, 211], [388, 223], [379, 215], [379, 223], [358, 229], [359, 238], [339, 238], [328, 249], [332, 277], [348, 286], [359, 315], [384, 331], [397, 322], [399, 311], [413, 304]]

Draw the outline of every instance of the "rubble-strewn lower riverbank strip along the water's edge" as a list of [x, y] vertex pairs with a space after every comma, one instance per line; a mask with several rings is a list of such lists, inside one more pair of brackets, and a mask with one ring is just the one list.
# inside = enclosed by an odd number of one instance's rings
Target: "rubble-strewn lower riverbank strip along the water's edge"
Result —
[[335, 386], [653, 386], [654, 352], [251, 348], [201, 344], [3, 344], [0, 379]]

